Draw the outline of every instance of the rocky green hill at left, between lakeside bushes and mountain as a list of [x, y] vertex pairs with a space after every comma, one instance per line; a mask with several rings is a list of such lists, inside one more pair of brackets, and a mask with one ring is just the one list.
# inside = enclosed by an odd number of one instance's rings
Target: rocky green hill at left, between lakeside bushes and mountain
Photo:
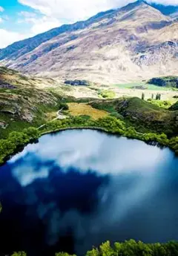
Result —
[[0, 67], [0, 138], [10, 131], [41, 125], [59, 110], [60, 96], [38, 88], [51, 79], [34, 79]]

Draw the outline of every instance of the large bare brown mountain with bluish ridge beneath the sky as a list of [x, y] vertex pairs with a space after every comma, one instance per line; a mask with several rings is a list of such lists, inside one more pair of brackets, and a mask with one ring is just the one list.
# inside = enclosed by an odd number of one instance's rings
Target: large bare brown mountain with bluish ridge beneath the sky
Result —
[[145, 1], [63, 25], [0, 50], [33, 75], [119, 83], [178, 74], [178, 21]]

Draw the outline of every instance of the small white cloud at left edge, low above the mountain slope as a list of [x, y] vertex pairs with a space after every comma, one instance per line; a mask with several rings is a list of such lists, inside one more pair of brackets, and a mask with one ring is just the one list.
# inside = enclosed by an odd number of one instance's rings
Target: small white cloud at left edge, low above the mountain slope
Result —
[[7, 45], [24, 39], [27, 35], [16, 33], [10, 30], [4, 30], [0, 28], [0, 48], [7, 47]]

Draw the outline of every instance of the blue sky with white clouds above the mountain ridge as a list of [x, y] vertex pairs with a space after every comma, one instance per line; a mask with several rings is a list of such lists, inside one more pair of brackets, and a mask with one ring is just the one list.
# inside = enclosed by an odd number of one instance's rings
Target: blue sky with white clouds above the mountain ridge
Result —
[[[0, 0], [0, 48], [135, 0]], [[178, 5], [178, 0], [149, 0]]]

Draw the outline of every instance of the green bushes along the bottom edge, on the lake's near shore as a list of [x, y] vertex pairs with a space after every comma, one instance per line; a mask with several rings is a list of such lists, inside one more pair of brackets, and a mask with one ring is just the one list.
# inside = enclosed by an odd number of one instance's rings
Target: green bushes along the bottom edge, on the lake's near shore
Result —
[[[124, 243], [114, 243], [111, 246], [109, 241], [102, 243], [99, 248], [93, 247], [86, 252], [86, 256], [177, 256], [178, 243], [142, 243], [135, 240], [128, 240]], [[27, 256], [24, 252], [15, 252], [12, 256]], [[55, 256], [75, 256], [66, 252], [56, 253]]]

